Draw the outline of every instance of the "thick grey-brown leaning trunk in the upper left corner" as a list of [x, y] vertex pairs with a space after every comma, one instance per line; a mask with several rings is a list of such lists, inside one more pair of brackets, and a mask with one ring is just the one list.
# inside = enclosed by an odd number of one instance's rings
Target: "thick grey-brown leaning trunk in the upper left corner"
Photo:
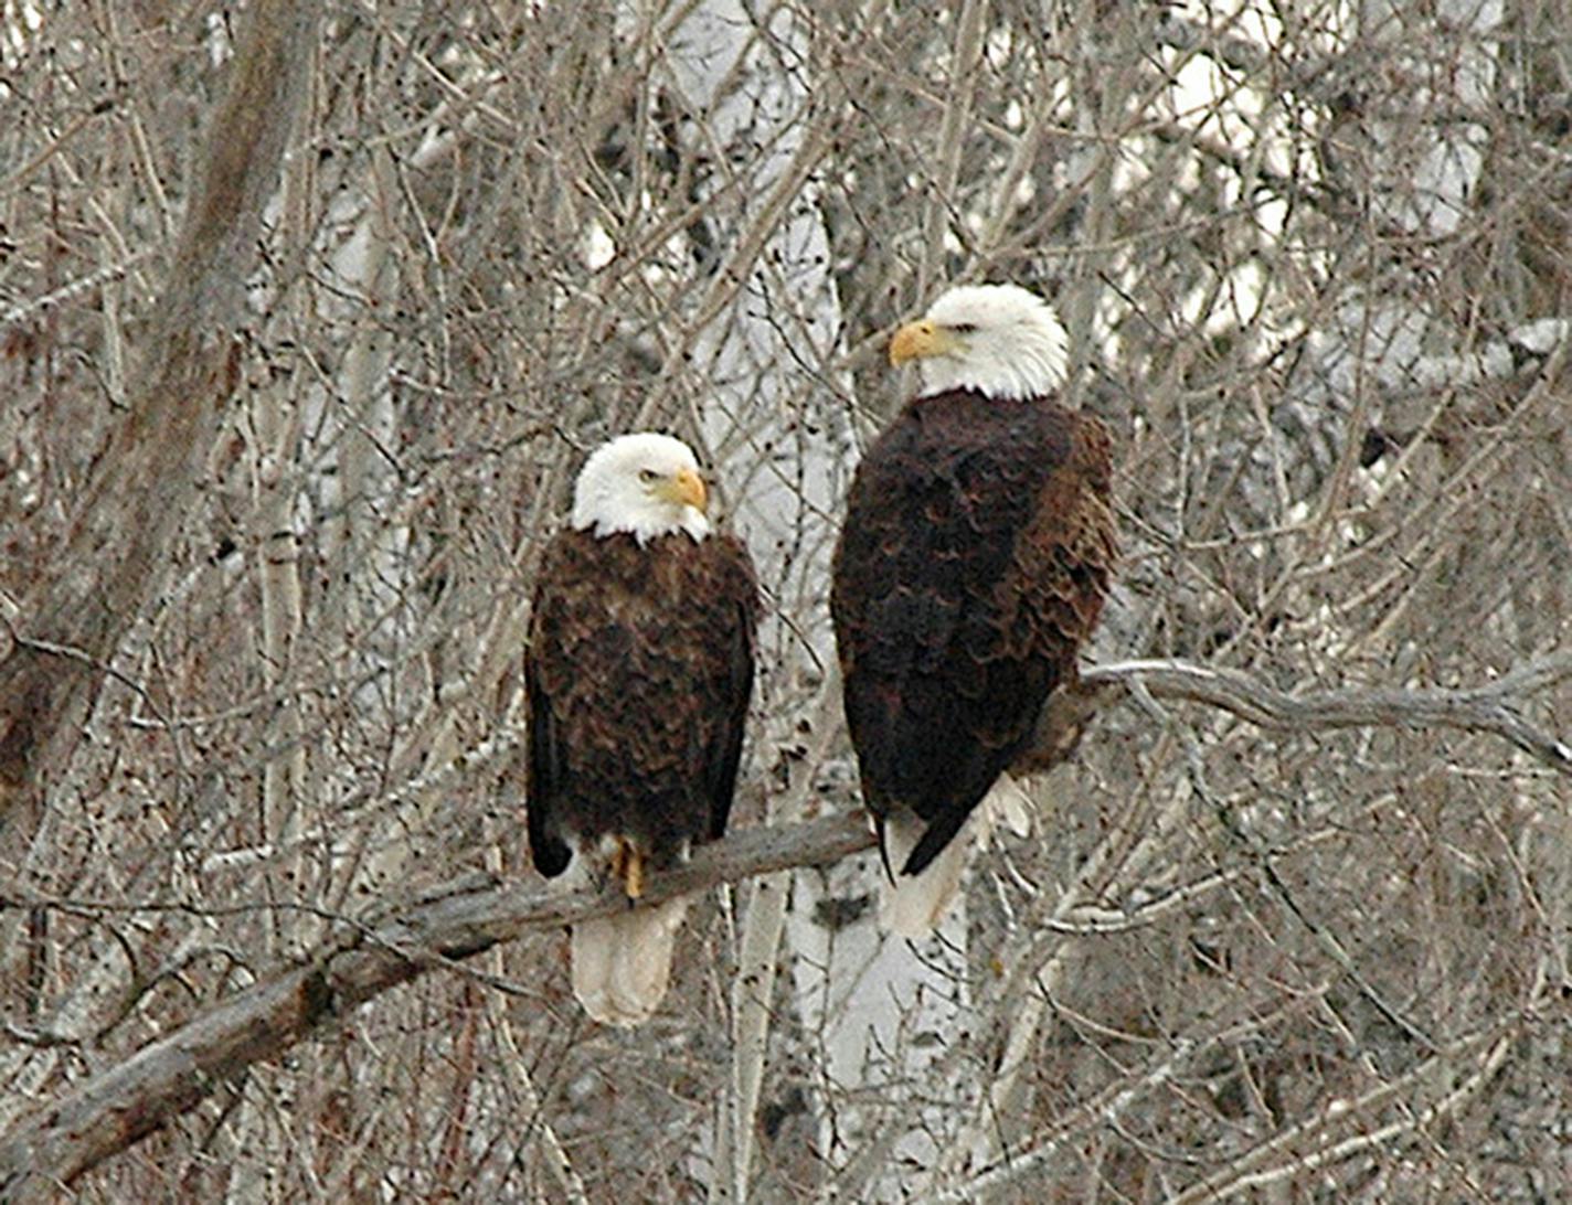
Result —
[[[239, 375], [242, 284], [278, 181], [318, 8], [294, 0], [252, 13], [130, 413], [77, 500], [66, 545], [22, 600], [14, 628], [27, 639], [0, 644], [0, 809], [33, 779], [44, 745], [69, 729], [63, 720], [97, 680], [93, 666], [112, 660], [141, 614], [190, 509]], [[83, 657], [61, 658], [41, 644]]]

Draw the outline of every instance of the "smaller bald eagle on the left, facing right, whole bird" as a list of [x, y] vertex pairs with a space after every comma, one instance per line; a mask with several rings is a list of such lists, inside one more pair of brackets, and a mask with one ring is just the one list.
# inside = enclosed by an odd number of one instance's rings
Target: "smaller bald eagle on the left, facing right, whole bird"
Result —
[[[693, 451], [638, 432], [602, 445], [545, 550], [530, 619], [528, 830], [536, 869], [610, 875], [635, 905], [652, 872], [726, 831], [753, 690], [759, 591], [711, 531]], [[665, 996], [687, 900], [580, 921], [574, 994], [605, 1024]]]

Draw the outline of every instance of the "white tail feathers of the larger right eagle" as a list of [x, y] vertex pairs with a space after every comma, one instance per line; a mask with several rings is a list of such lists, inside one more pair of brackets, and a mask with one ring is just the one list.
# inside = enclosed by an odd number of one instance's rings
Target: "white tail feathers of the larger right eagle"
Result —
[[1031, 831], [1031, 798], [1009, 776], [1000, 775], [982, 801], [971, 811], [960, 831], [938, 852], [920, 875], [902, 875], [907, 855], [923, 839], [927, 822], [912, 814], [885, 820], [885, 850], [894, 883], [885, 883], [879, 905], [879, 924], [902, 938], [926, 938], [949, 911], [967, 869], [973, 842], [987, 841], [994, 825], [1003, 820], [1019, 836]]

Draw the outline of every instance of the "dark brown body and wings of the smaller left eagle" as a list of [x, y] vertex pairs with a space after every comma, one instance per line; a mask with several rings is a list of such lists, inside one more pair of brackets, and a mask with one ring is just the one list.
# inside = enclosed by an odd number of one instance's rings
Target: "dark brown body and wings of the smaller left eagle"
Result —
[[753, 687], [758, 588], [728, 537], [563, 533], [530, 625], [528, 830], [561, 874], [627, 836], [659, 864], [726, 826]]

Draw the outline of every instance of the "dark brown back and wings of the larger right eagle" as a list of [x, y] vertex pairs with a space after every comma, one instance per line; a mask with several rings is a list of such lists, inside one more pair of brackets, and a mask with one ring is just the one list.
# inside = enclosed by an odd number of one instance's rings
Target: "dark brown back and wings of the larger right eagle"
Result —
[[857, 470], [830, 608], [876, 817], [942, 850], [1023, 753], [1108, 589], [1107, 430], [1036, 399], [910, 404]]

